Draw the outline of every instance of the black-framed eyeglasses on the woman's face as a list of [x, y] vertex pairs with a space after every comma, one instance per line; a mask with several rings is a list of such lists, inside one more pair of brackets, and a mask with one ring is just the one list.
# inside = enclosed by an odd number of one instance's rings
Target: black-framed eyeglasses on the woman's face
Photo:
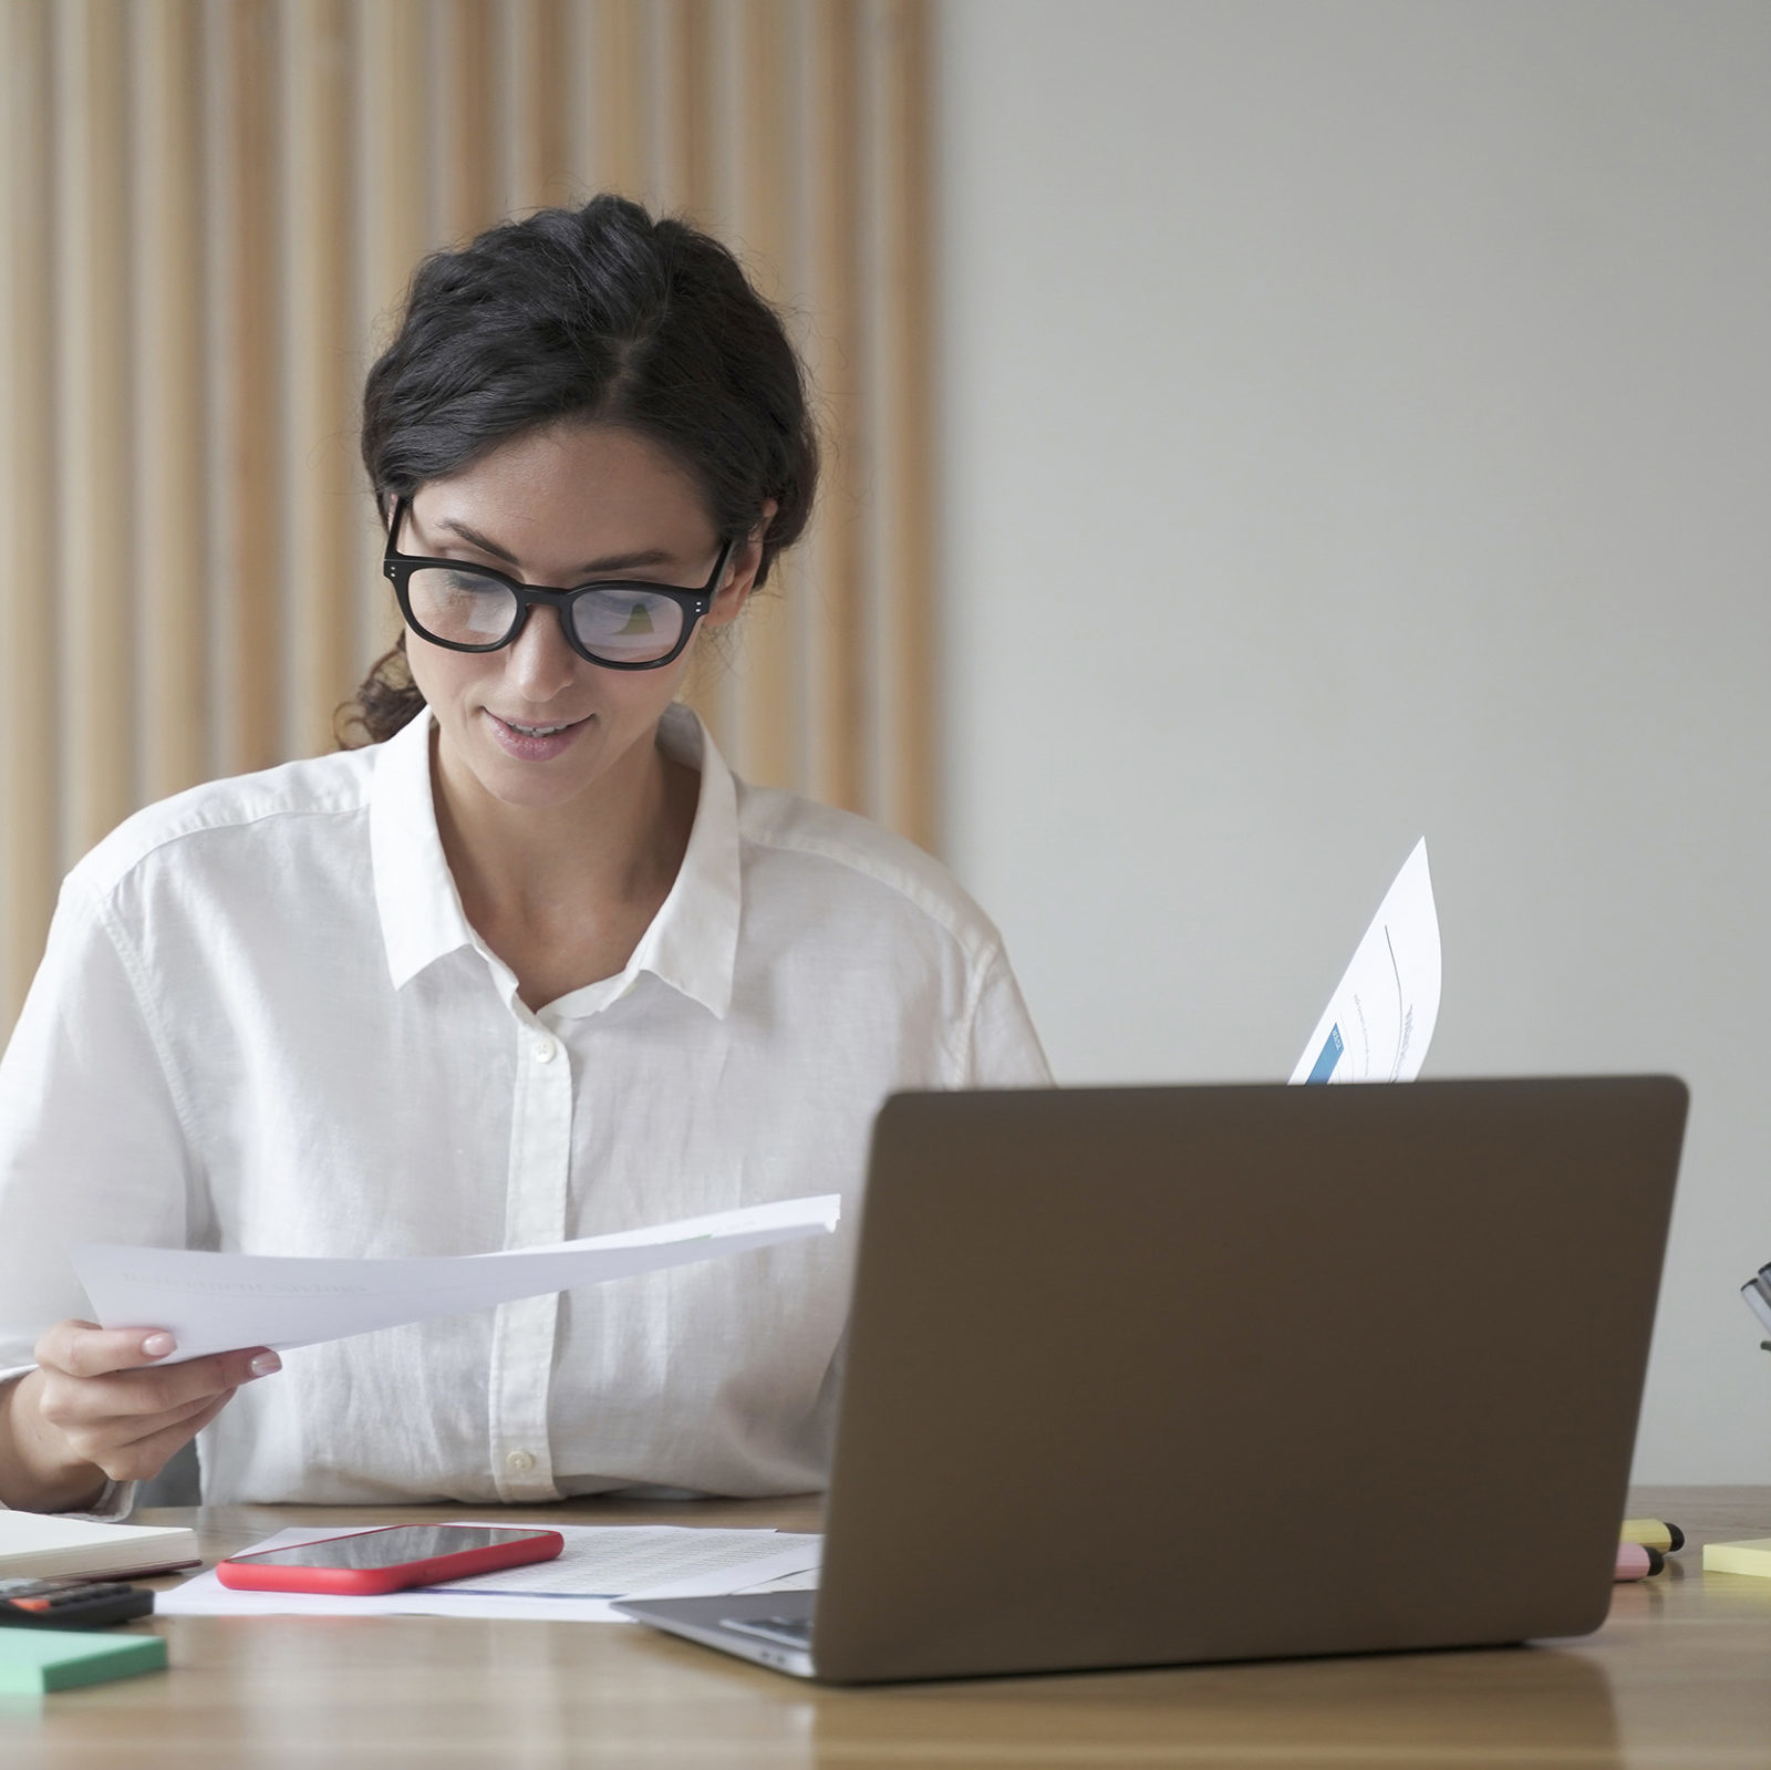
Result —
[[694, 624], [714, 606], [735, 540], [719, 549], [700, 590], [607, 578], [574, 590], [519, 583], [487, 565], [400, 553], [406, 500], [393, 503], [381, 569], [393, 581], [406, 624], [421, 640], [452, 652], [496, 652], [522, 631], [537, 604], [560, 617], [565, 643], [606, 670], [659, 670], [689, 643]]

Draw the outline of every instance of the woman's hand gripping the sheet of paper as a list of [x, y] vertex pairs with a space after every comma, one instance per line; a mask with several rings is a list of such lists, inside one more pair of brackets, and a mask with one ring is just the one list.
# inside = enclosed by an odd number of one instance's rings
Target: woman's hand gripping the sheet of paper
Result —
[[283, 1361], [266, 1347], [158, 1368], [177, 1347], [154, 1327], [57, 1322], [37, 1368], [0, 1389], [0, 1501], [30, 1511], [90, 1506], [113, 1481], [145, 1481]]

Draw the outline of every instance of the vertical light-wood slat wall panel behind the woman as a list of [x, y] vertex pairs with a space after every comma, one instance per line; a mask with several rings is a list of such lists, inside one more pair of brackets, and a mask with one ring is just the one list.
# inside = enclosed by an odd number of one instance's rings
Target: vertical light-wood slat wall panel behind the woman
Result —
[[0, 0], [0, 996], [136, 804], [329, 748], [397, 631], [356, 464], [418, 257], [620, 190], [726, 237], [825, 498], [691, 695], [935, 831], [926, 0]]

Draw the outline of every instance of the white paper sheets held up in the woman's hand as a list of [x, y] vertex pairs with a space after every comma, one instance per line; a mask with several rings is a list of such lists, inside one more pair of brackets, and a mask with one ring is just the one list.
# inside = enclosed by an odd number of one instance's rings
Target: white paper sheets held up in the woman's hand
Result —
[[71, 1256], [94, 1320], [166, 1329], [179, 1350], [165, 1362], [177, 1364], [236, 1347], [283, 1352], [774, 1247], [829, 1235], [839, 1215], [841, 1196], [827, 1192], [496, 1254], [312, 1260], [85, 1242]]

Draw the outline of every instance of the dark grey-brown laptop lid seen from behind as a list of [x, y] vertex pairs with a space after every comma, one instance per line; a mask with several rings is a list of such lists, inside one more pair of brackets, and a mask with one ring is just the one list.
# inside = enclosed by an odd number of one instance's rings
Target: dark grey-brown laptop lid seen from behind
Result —
[[900, 1095], [816, 1676], [1583, 1634], [1686, 1088]]

